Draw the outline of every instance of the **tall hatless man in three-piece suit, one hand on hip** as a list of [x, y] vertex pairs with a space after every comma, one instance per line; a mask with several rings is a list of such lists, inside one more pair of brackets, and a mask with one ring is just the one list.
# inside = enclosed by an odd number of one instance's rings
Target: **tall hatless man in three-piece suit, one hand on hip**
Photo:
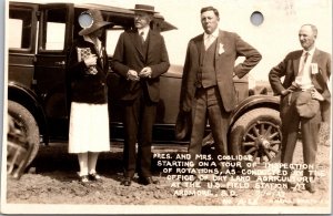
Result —
[[[229, 117], [236, 105], [233, 76], [243, 78], [261, 60], [261, 54], [236, 33], [219, 30], [219, 21], [215, 8], [201, 9], [204, 33], [190, 40], [182, 78], [180, 113], [191, 112], [193, 116], [189, 154], [195, 166], [206, 117], [216, 153], [228, 154]], [[238, 56], [245, 60], [234, 65]]]

